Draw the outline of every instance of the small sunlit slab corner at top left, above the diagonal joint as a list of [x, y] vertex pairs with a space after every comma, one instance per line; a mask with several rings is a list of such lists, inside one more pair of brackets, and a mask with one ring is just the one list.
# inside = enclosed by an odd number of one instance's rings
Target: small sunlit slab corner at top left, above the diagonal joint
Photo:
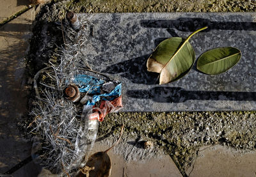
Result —
[[0, 22], [15, 15], [29, 4], [28, 0], [1, 0], [0, 1]]

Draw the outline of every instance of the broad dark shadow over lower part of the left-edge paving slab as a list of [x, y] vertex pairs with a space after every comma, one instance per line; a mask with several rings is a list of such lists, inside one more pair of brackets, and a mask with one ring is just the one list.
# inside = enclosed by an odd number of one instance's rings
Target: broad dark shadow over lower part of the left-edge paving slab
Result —
[[0, 54], [0, 173], [28, 157], [31, 151], [31, 144], [22, 138], [17, 127], [26, 112], [28, 94], [19, 78], [22, 75], [22, 66], [19, 66], [22, 48], [26, 50], [24, 43], [14, 43]]

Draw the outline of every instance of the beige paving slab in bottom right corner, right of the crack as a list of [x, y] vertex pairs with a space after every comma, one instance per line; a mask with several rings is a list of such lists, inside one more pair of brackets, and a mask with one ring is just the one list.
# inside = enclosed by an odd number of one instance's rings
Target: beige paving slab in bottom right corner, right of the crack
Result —
[[212, 146], [199, 151], [195, 164], [187, 171], [187, 174], [189, 177], [255, 177], [256, 152], [244, 153], [225, 146]]

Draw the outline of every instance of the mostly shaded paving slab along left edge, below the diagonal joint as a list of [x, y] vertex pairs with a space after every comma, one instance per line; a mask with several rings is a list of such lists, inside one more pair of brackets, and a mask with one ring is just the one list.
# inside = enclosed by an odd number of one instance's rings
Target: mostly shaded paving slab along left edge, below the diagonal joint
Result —
[[34, 19], [31, 9], [0, 27], [0, 174], [31, 154], [31, 143], [22, 139], [17, 123], [26, 112], [23, 62]]

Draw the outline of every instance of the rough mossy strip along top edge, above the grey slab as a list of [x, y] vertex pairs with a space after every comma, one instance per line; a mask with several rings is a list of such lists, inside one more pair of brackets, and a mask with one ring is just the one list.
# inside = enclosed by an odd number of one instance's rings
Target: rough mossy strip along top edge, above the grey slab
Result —
[[[253, 1], [79, 1], [77, 10], [86, 12], [254, 12]], [[79, 9], [81, 8], [81, 9]]]

